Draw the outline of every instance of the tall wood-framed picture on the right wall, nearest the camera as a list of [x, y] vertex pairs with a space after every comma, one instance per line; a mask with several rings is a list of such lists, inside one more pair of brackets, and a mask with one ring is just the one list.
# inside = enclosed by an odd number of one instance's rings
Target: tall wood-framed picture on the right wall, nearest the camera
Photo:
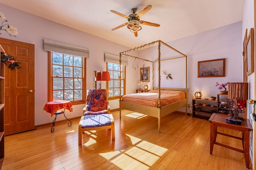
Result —
[[246, 40], [246, 62], [247, 72], [246, 75], [250, 75], [254, 72], [254, 33], [253, 28], [250, 29]]

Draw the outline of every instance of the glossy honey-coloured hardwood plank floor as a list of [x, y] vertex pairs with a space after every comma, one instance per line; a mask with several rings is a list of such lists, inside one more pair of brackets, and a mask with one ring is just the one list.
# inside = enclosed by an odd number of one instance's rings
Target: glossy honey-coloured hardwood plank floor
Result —
[[[116, 140], [111, 131], [88, 131], [78, 146], [80, 118], [57, 122], [33, 131], [5, 137], [3, 170], [245, 170], [243, 154], [214, 145], [210, 154], [210, 123], [174, 112], [157, 118], [123, 110], [112, 112]], [[237, 131], [221, 129], [240, 136]], [[222, 135], [217, 141], [242, 149], [242, 142]]]

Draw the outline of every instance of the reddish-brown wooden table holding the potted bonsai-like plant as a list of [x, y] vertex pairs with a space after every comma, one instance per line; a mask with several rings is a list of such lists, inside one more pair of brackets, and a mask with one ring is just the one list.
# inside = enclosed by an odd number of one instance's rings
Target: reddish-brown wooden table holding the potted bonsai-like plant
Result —
[[[227, 117], [226, 115], [213, 113], [209, 119], [209, 121], [211, 123], [211, 125], [210, 125], [210, 154], [212, 154], [214, 144], [220, 145], [220, 146], [228, 148], [228, 149], [236, 150], [238, 152], [242, 152], [242, 153], [244, 153], [246, 168], [249, 169], [250, 168], [250, 155], [249, 155], [250, 131], [252, 131], [252, 125], [250, 124], [250, 121], [248, 119], [245, 119], [242, 122], [242, 125], [234, 125], [231, 123], [226, 123], [226, 119], [225, 119], [226, 117]], [[240, 132], [242, 132], [242, 138], [218, 132], [217, 127], [224, 127], [227, 129], [233, 129], [236, 131], [240, 131]], [[243, 150], [216, 142], [217, 134], [242, 140]]]

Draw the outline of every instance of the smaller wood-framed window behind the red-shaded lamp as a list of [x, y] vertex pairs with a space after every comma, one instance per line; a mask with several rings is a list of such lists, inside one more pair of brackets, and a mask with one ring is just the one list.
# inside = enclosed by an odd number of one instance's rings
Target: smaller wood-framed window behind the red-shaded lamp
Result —
[[[107, 63], [107, 71], [110, 74], [110, 81], [107, 81], [108, 100], [118, 99], [120, 97], [119, 96], [120, 65], [115, 63]], [[121, 65], [121, 96], [124, 95], [124, 89], [125, 89], [125, 66]]]

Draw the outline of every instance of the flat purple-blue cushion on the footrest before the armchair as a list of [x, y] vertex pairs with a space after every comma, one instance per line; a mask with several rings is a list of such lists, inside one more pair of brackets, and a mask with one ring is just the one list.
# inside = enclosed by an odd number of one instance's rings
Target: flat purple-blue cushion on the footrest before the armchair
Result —
[[98, 115], [85, 115], [82, 123], [82, 128], [100, 127], [111, 125], [111, 120], [108, 113]]

